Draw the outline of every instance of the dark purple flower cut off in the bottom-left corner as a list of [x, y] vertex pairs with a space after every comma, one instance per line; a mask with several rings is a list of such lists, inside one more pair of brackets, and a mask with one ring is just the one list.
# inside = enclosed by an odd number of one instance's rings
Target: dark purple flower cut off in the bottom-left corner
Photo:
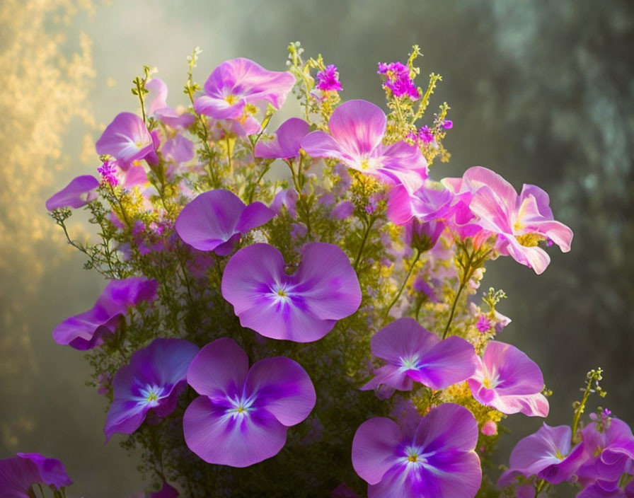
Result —
[[0, 497], [31, 498], [35, 484], [59, 490], [70, 486], [64, 464], [57, 458], [45, 458], [40, 453], [18, 453], [0, 460]]

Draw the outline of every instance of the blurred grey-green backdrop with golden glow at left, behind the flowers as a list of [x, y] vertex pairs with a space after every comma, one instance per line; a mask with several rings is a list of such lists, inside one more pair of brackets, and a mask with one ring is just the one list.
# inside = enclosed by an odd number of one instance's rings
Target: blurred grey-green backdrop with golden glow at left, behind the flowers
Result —
[[[75, 175], [95, 174], [93, 143], [117, 112], [134, 111], [130, 82], [157, 66], [185, 103], [185, 57], [214, 66], [249, 57], [284, 69], [288, 42], [340, 69], [342, 98], [381, 103], [376, 62], [411, 45], [442, 74], [454, 129], [435, 178], [488, 166], [540, 185], [575, 231], [572, 252], [551, 251], [536, 276], [510, 258], [484, 285], [505, 289], [500, 337], [540, 364], [551, 425], [570, 423], [585, 373], [601, 366], [608, 397], [591, 400], [634, 423], [634, 3], [560, 0], [3, 0], [0, 3], [0, 458], [38, 451], [62, 459], [69, 496], [127, 497], [145, 486], [137, 456], [103, 444], [105, 403], [84, 385], [80, 352], [50, 331], [92, 306], [105, 282], [82, 270], [47, 219], [45, 199]], [[76, 219], [81, 221], [81, 217]], [[73, 226], [84, 236], [81, 224]], [[554, 248], [556, 249], [556, 248]], [[500, 447], [541, 420], [516, 415]], [[350, 428], [355, 430], [354, 427]], [[564, 496], [565, 492], [558, 494]]]

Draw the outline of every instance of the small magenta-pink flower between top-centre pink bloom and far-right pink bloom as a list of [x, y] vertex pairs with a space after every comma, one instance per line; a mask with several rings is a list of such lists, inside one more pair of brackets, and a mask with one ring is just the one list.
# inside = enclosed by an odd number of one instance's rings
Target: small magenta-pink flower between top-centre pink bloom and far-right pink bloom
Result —
[[412, 194], [398, 185], [388, 197], [388, 218], [397, 225], [404, 225], [412, 218], [419, 221], [444, 219], [454, 210], [454, 198], [451, 190], [429, 178]]

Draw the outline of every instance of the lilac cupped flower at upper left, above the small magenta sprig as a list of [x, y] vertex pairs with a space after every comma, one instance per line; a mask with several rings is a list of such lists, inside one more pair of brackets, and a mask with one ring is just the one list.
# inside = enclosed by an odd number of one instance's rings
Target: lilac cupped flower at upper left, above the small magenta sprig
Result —
[[117, 114], [96, 144], [97, 154], [108, 154], [126, 168], [129, 163], [154, 153], [154, 142], [143, 120], [132, 112]]

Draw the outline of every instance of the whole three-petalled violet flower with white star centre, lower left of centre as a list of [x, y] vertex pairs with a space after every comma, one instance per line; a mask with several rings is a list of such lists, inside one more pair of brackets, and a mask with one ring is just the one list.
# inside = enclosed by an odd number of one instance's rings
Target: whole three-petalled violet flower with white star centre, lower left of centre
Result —
[[308, 373], [284, 357], [257, 361], [227, 337], [203, 347], [187, 373], [200, 394], [183, 416], [185, 443], [204, 461], [248, 467], [277, 455], [287, 428], [313, 410]]

